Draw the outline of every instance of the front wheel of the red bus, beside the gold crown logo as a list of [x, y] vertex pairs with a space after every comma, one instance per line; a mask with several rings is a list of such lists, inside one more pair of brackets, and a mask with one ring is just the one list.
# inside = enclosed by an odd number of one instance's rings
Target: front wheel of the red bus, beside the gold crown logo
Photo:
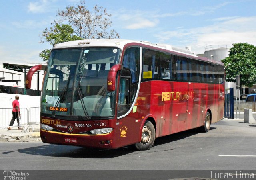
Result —
[[136, 143], [135, 147], [139, 151], [148, 150], [153, 146], [155, 139], [155, 127], [150, 121], [147, 120], [142, 128], [141, 141], [140, 143]]

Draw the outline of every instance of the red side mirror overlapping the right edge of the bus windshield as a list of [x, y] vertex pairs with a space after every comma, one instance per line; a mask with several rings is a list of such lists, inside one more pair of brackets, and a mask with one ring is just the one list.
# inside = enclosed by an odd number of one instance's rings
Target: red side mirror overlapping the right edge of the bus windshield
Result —
[[108, 78], [107, 78], [107, 90], [108, 91], [114, 91], [116, 90], [116, 74], [119, 70], [123, 69], [123, 65], [116, 64], [112, 66], [108, 72]]

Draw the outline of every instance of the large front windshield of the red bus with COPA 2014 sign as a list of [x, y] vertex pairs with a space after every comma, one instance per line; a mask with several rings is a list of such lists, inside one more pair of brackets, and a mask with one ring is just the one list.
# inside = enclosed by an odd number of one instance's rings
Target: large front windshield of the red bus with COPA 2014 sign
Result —
[[[119, 63], [113, 47], [56, 49], [51, 52], [41, 112], [94, 119], [114, 116], [115, 92], [107, 91], [109, 69]], [[76, 119], [76, 118], [75, 118]]]

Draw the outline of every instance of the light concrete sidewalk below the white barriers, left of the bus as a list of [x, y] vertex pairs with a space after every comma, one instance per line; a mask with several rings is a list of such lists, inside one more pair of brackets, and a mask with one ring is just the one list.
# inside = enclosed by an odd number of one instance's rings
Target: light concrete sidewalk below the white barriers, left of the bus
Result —
[[[11, 141], [11, 142], [28, 142], [28, 141], [41, 141], [40, 139], [40, 125], [32, 125], [35, 132], [28, 125], [24, 126], [22, 130], [18, 127], [12, 127], [12, 130], [7, 128], [0, 129], [0, 141]], [[21, 127], [22, 128], [22, 127]], [[25, 132], [25, 128], [27, 129]]]

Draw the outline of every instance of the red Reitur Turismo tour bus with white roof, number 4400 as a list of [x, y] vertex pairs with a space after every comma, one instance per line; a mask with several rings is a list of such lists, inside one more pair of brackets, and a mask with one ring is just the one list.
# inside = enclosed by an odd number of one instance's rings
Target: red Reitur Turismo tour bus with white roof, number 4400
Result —
[[224, 66], [190, 51], [148, 42], [93, 39], [60, 43], [42, 87], [44, 143], [148, 150], [157, 137], [223, 118]]

